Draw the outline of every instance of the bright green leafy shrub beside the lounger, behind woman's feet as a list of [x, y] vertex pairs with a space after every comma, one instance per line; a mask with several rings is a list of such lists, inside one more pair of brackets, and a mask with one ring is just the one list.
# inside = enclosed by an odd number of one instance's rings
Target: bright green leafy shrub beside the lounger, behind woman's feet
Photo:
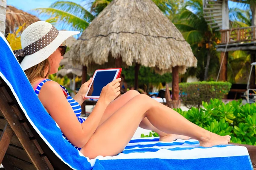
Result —
[[[189, 111], [174, 110], [206, 130], [221, 136], [230, 135], [230, 142], [256, 146], [255, 103], [241, 105], [241, 101], [232, 101], [225, 105], [219, 99], [211, 99], [209, 104], [203, 102], [202, 105], [200, 109], [191, 108]], [[142, 134], [141, 137], [148, 136]]]

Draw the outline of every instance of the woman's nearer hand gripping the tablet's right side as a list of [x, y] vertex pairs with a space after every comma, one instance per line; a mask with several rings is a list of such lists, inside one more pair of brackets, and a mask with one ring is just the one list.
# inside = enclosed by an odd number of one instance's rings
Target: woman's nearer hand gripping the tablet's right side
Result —
[[120, 94], [120, 82], [121, 78], [115, 79], [108, 83], [104, 88], [102, 88], [100, 99], [103, 99], [107, 104], [112, 102]]

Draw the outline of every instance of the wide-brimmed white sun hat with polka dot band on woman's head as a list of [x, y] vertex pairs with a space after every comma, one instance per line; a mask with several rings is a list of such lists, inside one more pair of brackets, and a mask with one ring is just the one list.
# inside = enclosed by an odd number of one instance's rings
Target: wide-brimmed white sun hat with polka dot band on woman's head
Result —
[[54, 53], [67, 38], [79, 31], [58, 31], [52, 24], [38, 21], [28, 26], [21, 34], [22, 50], [14, 51], [21, 68], [26, 70], [39, 64]]

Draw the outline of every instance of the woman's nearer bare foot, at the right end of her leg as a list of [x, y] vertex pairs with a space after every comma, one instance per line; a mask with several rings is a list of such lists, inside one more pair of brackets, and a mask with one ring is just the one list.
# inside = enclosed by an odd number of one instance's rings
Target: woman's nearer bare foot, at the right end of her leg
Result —
[[202, 137], [199, 140], [200, 146], [202, 147], [212, 147], [220, 144], [228, 144], [230, 142], [230, 136], [219, 136], [215, 133], [209, 132], [207, 136]]

